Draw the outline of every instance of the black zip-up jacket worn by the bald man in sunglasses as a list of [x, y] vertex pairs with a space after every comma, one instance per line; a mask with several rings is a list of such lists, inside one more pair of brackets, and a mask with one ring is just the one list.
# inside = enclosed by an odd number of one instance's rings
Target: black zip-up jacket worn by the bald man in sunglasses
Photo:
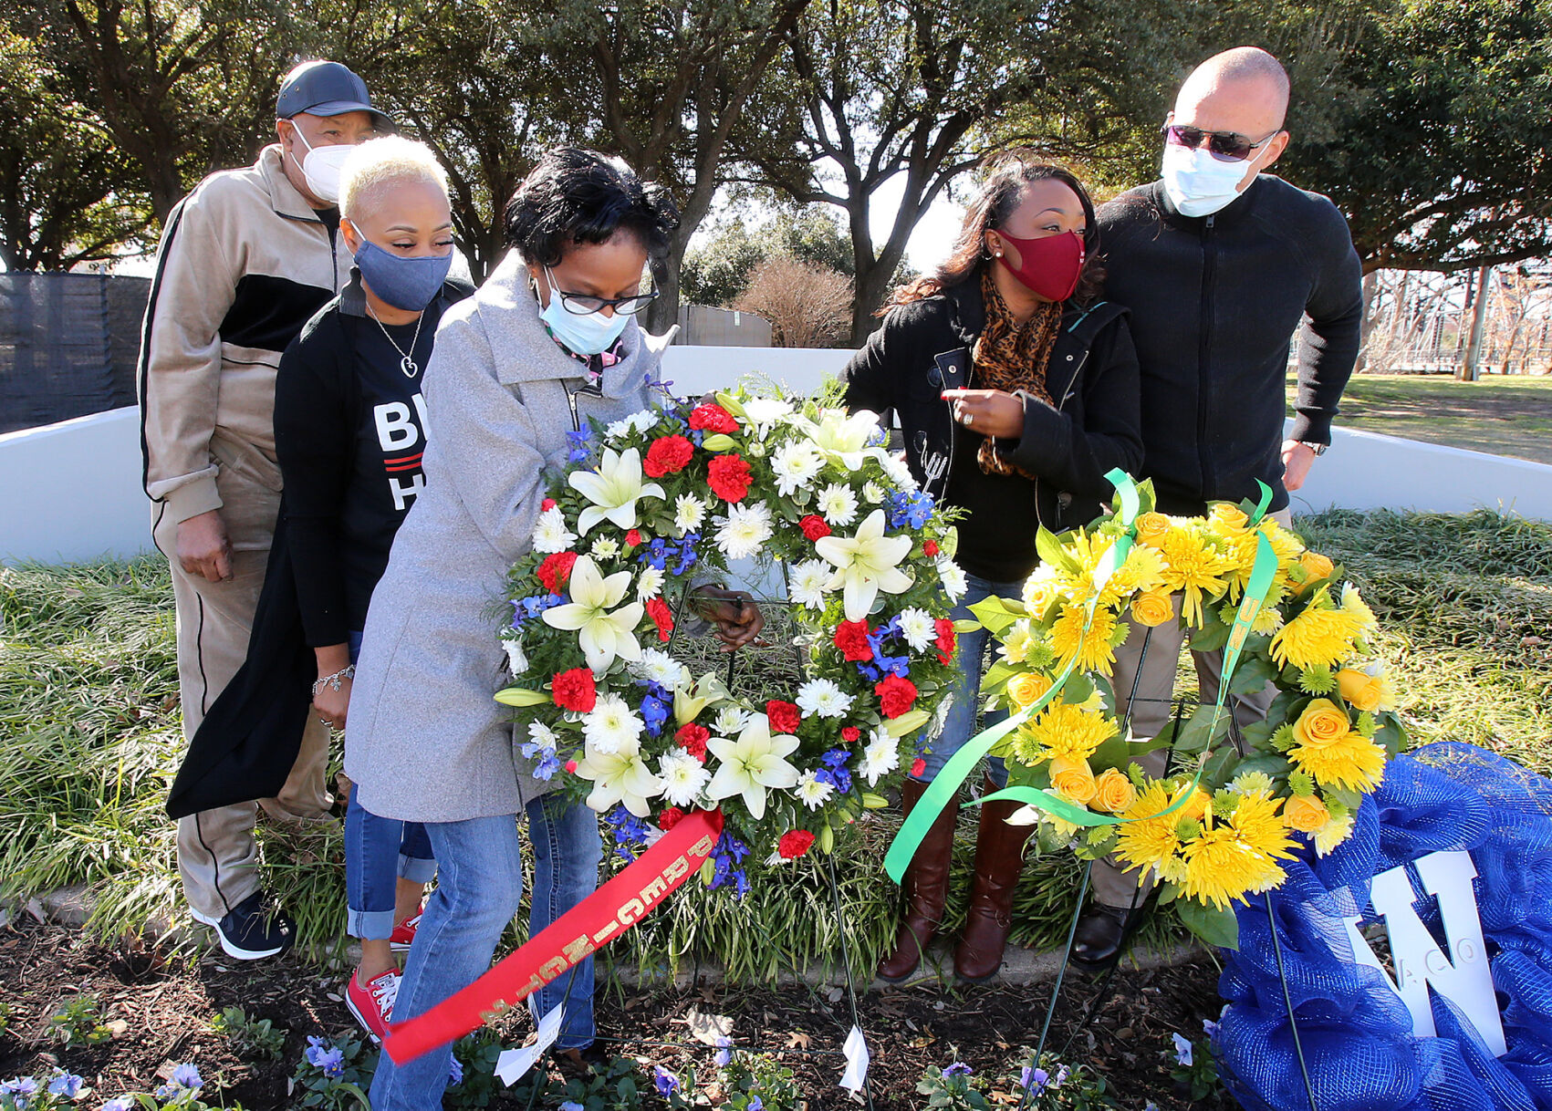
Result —
[[1347, 220], [1316, 192], [1262, 174], [1214, 216], [1181, 216], [1162, 182], [1099, 209], [1105, 296], [1131, 310], [1142, 368], [1142, 475], [1159, 509], [1256, 498], [1282, 484], [1288, 341], [1299, 393], [1288, 439], [1330, 444], [1358, 358], [1363, 267]]

